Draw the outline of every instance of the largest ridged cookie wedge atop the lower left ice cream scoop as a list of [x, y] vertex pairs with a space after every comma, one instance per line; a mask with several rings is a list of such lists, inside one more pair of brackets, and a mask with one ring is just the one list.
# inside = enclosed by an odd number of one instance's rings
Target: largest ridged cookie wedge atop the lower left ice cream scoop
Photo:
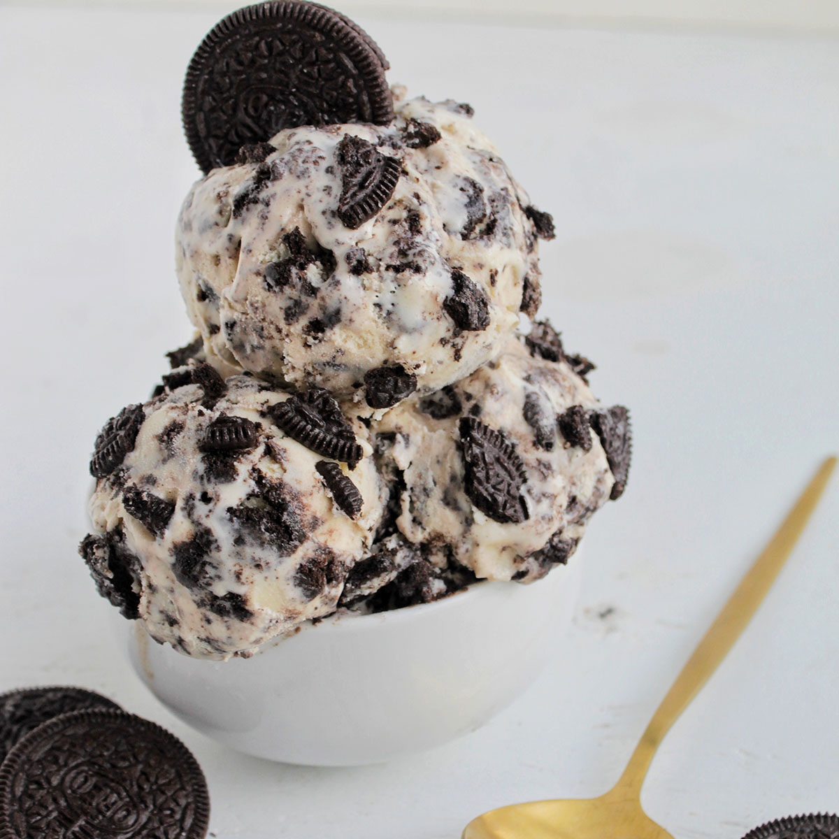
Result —
[[292, 440], [315, 454], [349, 463], [351, 469], [362, 459], [364, 452], [352, 426], [323, 388], [290, 396], [272, 405], [267, 413]]

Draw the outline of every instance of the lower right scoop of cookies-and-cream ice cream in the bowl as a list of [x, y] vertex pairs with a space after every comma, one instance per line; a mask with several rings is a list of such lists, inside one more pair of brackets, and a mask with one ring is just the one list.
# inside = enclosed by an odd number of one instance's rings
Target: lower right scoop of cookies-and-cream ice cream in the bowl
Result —
[[410, 543], [490, 580], [567, 560], [616, 482], [596, 430], [604, 409], [572, 364], [513, 337], [471, 376], [373, 423]]

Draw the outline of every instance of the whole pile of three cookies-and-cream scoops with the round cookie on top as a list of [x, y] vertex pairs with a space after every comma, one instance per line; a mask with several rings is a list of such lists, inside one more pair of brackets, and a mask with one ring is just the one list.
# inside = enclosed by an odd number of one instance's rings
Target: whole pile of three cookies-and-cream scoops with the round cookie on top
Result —
[[[226, 21], [195, 55], [185, 109], [220, 107], [195, 69], [207, 50], [253, 59], [312, 30], [386, 67], [354, 24], [309, 3]], [[258, 76], [253, 61], [221, 65]], [[534, 320], [553, 222], [471, 108], [394, 88], [379, 124], [336, 124], [323, 107], [292, 118], [260, 102], [270, 128], [248, 135], [231, 117], [237, 151], [188, 131], [213, 167], [177, 231], [199, 335], [96, 439], [81, 545], [103, 596], [201, 658], [252, 654], [337, 609], [534, 581], [568, 560], [629, 465], [626, 409], [598, 404], [591, 363]]]

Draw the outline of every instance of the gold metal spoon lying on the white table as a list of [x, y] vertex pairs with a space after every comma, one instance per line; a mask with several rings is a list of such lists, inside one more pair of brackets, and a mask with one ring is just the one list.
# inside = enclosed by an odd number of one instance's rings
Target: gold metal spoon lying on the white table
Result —
[[655, 750], [757, 612], [816, 508], [836, 466], [828, 457], [787, 513], [655, 711], [620, 780], [599, 798], [532, 801], [470, 821], [463, 839], [672, 839], [641, 808], [641, 785]]

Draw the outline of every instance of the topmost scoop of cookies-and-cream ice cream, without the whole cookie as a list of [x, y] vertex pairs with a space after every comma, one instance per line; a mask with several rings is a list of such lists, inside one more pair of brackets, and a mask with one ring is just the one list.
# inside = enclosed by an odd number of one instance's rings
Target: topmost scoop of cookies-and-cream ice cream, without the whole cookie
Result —
[[468, 106], [400, 90], [394, 111], [286, 129], [190, 190], [177, 272], [219, 369], [386, 407], [472, 373], [534, 314], [550, 216]]

